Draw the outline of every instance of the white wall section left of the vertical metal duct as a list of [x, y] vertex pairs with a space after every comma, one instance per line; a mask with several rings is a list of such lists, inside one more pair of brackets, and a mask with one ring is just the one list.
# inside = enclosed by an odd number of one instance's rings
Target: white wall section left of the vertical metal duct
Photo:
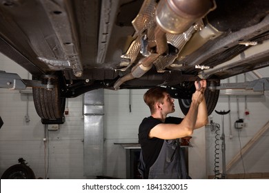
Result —
[[[28, 78], [26, 70], [3, 55], [0, 61], [1, 70], [17, 73], [23, 79]], [[28, 123], [25, 121], [27, 106], [30, 116]], [[0, 175], [22, 157], [37, 178], [81, 179], [84, 125], [82, 96], [68, 99], [68, 107], [70, 112], [66, 116], [66, 123], [60, 125], [58, 131], [48, 132], [35, 112], [31, 94], [0, 89], [0, 116], [4, 122], [0, 130]]]

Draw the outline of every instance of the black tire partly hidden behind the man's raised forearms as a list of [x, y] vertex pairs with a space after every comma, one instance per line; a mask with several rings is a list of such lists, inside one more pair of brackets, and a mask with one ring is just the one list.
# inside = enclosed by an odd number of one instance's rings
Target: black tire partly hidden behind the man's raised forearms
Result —
[[[206, 108], [208, 109], [208, 116], [213, 112], [219, 100], [219, 90], [209, 90], [206, 89]], [[192, 99], [179, 99], [179, 107], [184, 115], [188, 114], [190, 109], [190, 103]]]

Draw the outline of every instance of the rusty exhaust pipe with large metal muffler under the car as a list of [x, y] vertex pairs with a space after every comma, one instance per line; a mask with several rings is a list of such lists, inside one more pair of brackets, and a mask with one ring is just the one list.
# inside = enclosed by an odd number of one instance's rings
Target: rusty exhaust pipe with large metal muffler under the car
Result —
[[193, 23], [215, 7], [214, 0], [161, 0], [156, 9], [156, 52], [141, 59], [129, 74], [118, 79], [114, 83], [114, 89], [118, 90], [120, 85], [126, 81], [142, 77], [152, 68], [152, 63], [168, 50], [166, 33], [180, 34], [185, 32]]

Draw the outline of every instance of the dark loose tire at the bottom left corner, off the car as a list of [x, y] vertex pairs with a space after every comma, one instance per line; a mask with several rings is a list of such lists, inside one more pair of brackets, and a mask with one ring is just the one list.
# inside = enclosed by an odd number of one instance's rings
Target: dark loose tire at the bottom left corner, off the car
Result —
[[35, 179], [35, 176], [28, 165], [16, 164], [8, 167], [1, 179]]

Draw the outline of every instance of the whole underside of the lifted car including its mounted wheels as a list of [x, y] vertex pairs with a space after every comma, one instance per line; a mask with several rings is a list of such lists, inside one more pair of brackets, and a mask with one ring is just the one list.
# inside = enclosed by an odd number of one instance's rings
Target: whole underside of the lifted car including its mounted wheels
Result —
[[[266, 0], [2, 0], [0, 51], [32, 74], [23, 83], [42, 123], [63, 123], [66, 98], [99, 88], [163, 86], [186, 114], [194, 81], [269, 65], [268, 10]], [[208, 114], [218, 98], [206, 90]]]

